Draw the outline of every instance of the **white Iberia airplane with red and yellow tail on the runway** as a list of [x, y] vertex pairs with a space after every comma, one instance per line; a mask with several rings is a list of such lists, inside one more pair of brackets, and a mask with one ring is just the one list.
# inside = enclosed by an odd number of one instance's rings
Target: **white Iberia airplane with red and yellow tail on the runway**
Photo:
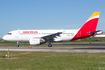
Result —
[[73, 41], [102, 33], [101, 30], [96, 31], [99, 15], [100, 12], [94, 12], [79, 29], [14, 30], [3, 36], [3, 39], [17, 42], [17, 47], [19, 42], [29, 42], [30, 45], [41, 45], [47, 42], [48, 47], [52, 47], [51, 42]]

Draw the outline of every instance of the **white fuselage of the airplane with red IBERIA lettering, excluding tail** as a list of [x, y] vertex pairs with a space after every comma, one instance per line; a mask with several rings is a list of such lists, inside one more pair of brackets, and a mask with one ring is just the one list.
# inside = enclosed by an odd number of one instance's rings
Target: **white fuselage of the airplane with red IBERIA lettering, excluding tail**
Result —
[[70, 41], [78, 30], [14, 30], [3, 37], [7, 41], [29, 42], [31, 38], [41, 38], [57, 32], [62, 32], [59, 36], [54, 37], [57, 41]]

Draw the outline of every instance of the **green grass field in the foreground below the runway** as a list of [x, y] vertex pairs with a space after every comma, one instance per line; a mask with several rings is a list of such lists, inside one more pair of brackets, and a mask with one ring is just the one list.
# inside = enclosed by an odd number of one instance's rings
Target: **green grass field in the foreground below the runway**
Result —
[[105, 53], [0, 52], [0, 70], [105, 70]]

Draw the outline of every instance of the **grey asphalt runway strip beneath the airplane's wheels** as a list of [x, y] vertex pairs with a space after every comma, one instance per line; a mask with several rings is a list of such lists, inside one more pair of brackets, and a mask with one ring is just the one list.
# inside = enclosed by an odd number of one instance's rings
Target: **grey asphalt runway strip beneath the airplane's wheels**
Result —
[[[53, 44], [53, 45], [70, 45], [78, 47], [0, 47], [0, 51], [40, 51], [40, 52], [88, 52], [101, 53], [105, 52], [105, 44]], [[84, 46], [84, 47], [79, 47]], [[88, 46], [88, 47], [87, 47]]]

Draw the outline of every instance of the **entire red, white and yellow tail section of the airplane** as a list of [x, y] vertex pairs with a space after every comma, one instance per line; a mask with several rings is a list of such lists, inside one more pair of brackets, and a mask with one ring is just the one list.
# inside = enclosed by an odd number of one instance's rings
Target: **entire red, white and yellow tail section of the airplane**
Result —
[[100, 12], [94, 12], [90, 16], [90, 18], [85, 22], [85, 24], [78, 30], [77, 34], [72, 38], [72, 40], [81, 39], [94, 35], [89, 34], [89, 32], [96, 31], [99, 15]]

